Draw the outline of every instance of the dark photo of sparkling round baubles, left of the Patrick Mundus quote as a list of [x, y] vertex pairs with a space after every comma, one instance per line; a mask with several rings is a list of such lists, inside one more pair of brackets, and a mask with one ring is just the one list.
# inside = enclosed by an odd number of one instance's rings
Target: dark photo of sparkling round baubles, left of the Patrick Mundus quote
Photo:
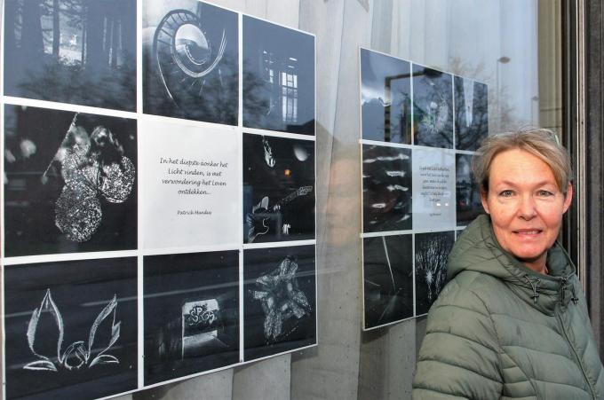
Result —
[[136, 120], [4, 111], [6, 256], [135, 249]]

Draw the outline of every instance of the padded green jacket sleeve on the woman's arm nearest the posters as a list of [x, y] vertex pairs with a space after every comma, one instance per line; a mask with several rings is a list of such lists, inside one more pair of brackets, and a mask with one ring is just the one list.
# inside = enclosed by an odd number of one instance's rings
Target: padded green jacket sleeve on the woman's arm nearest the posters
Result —
[[413, 380], [414, 400], [502, 396], [495, 325], [485, 303], [473, 293], [472, 282], [465, 282], [449, 282], [428, 313]]

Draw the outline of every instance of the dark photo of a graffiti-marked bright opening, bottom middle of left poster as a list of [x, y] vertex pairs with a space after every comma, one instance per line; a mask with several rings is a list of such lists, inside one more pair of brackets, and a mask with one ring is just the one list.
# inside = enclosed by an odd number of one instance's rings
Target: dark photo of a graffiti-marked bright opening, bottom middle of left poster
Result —
[[239, 360], [239, 252], [144, 257], [145, 385]]

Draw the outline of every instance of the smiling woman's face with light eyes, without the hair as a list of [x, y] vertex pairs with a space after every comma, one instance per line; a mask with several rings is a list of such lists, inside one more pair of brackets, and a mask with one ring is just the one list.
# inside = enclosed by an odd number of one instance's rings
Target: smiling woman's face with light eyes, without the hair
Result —
[[568, 184], [565, 196], [544, 161], [513, 149], [491, 161], [489, 192], [481, 196], [501, 247], [529, 268], [544, 271], [547, 250], [572, 200], [572, 186]]

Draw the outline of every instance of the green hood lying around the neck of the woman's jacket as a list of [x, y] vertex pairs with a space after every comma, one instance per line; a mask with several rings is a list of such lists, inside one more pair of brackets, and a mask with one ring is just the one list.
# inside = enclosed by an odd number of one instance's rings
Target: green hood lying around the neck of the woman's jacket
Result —
[[[505, 251], [495, 237], [487, 215], [478, 216], [457, 239], [449, 254], [448, 280], [462, 271], [475, 271], [501, 279], [537, 310], [552, 315], [556, 306], [566, 307], [575, 295], [576, 268], [556, 243], [547, 252], [549, 275], [529, 269]], [[569, 281], [570, 280], [570, 281]]]

